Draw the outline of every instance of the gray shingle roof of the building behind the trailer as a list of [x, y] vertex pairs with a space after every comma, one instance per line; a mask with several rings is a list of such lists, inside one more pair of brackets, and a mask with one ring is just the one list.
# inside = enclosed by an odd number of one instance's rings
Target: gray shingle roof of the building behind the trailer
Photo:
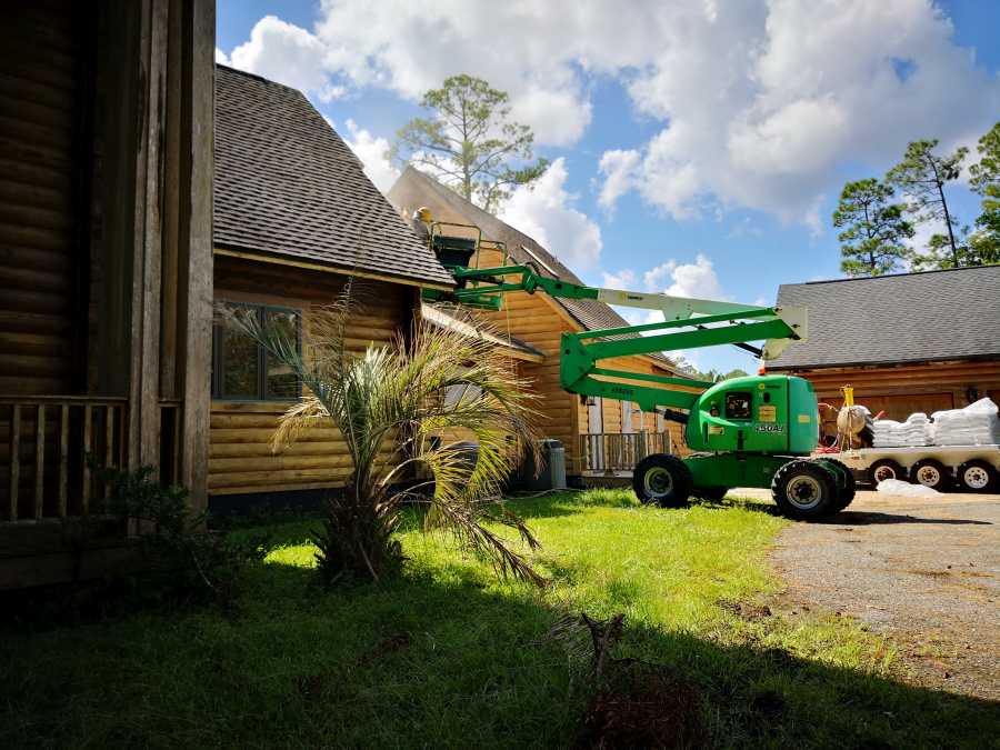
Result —
[[782, 284], [809, 308], [809, 340], [768, 369], [1000, 356], [1000, 266]]

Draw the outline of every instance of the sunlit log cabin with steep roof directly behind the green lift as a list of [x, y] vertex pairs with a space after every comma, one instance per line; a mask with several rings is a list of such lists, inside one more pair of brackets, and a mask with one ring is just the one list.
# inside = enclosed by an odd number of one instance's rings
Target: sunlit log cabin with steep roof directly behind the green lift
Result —
[[[441, 231], [480, 242], [481, 267], [512, 262], [531, 263], [553, 278], [582, 283], [559, 258], [534, 239], [483, 211], [432, 177], [408, 167], [389, 190], [388, 198], [403, 218], [428, 208]], [[559, 337], [617, 328], [629, 323], [603, 302], [552, 299], [547, 294], [508, 294], [500, 312], [480, 312], [503, 338], [513, 337], [540, 352], [542, 361], [521, 364], [520, 372], [541, 397], [541, 428], [546, 437], [562, 442], [570, 476], [628, 472], [648, 452], [683, 451], [682, 428], [662, 416], [642, 413], [638, 406], [602, 399], [581, 400], [559, 384]], [[608, 367], [677, 377], [672, 363], [661, 354], [623, 357]]]

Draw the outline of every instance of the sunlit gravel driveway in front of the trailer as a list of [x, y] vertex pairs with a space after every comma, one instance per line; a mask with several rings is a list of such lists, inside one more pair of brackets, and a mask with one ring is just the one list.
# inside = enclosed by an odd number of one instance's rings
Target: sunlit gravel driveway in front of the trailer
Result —
[[914, 681], [1000, 700], [1000, 496], [861, 491], [786, 529], [772, 559], [782, 608], [854, 617], [899, 644]]

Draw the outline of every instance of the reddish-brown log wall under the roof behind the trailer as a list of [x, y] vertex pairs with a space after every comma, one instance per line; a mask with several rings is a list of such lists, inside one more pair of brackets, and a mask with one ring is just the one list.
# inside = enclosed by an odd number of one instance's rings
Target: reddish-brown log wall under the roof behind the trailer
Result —
[[[853, 386], [854, 401], [887, 419], [904, 420], [916, 411], [930, 416], [941, 409], [968, 406], [968, 394], [1000, 399], [1000, 360], [931, 362], [881, 368], [828, 368], [790, 372], [812, 381], [820, 402], [839, 409], [842, 386]], [[824, 411], [823, 429], [836, 433], [836, 412]]]

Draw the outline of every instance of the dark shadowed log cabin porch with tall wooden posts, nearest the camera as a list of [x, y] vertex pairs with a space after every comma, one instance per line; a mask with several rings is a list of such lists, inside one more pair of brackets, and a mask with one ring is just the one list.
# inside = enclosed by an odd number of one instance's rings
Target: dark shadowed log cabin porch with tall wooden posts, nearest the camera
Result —
[[[84, 457], [206, 503], [213, 0], [8, 2], [0, 589], [134, 559]], [[93, 520], [93, 519], [91, 519]]]

